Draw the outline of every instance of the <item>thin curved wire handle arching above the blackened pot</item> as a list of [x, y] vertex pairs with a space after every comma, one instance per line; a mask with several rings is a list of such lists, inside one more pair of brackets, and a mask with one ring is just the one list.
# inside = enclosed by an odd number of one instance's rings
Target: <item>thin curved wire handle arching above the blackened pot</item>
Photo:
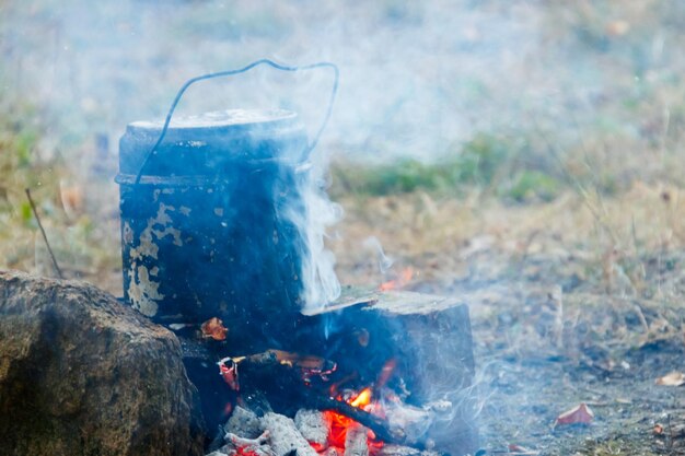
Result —
[[185, 94], [185, 92], [188, 90], [190, 85], [195, 84], [196, 82], [206, 81], [209, 79], [225, 78], [230, 75], [244, 73], [260, 65], [267, 65], [271, 68], [281, 70], [281, 71], [305, 71], [305, 70], [314, 70], [318, 68], [330, 68], [333, 70], [334, 80], [333, 80], [333, 89], [330, 91], [330, 97], [328, 100], [328, 108], [326, 109], [326, 114], [324, 115], [324, 120], [322, 121], [321, 127], [318, 127], [318, 130], [316, 131], [314, 139], [307, 145], [306, 156], [309, 156], [309, 154], [314, 150], [314, 148], [318, 143], [318, 140], [321, 139], [321, 135], [324, 132], [324, 129], [326, 128], [326, 126], [328, 125], [328, 120], [330, 119], [330, 113], [333, 112], [333, 103], [335, 102], [335, 97], [338, 93], [338, 81], [340, 79], [340, 72], [338, 70], [338, 67], [335, 63], [332, 63], [328, 61], [321, 61], [321, 62], [303, 65], [303, 66], [288, 66], [288, 65], [277, 63], [274, 60], [269, 60], [269, 59], [259, 59], [237, 70], [228, 70], [228, 71], [219, 71], [216, 73], [207, 73], [207, 74], [202, 74], [202, 75], [195, 77], [195, 78], [187, 80], [176, 93], [176, 96], [174, 97], [174, 101], [172, 102], [171, 107], [169, 108], [169, 113], [166, 114], [166, 119], [164, 120], [162, 132], [160, 133], [160, 137], [158, 138], [152, 149], [150, 149], [150, 151], [146, 154], [146, 157], [142, 161], [142, 165], [140, 165], [140, 169], [138, 171], [138, 175], [136, 175], [136, 180], [133, 185], [140, 184], [142, 172], [148, 165], [148, 162], [150, 161], [150, 157], [152, 156], [154, 151], [156, 151], [156, 148], [159, 148], [162, 141], [164, 140], [164, 137], [166, 136], [166, 132], [169, 130], [169, 125], [171, 124], [172, 116], [174, 115], [174, 112], [176, 110], [176, 106], [178, 105], [178, 102], [181, 102], [181, 98], [183, 97], [183, 95]]

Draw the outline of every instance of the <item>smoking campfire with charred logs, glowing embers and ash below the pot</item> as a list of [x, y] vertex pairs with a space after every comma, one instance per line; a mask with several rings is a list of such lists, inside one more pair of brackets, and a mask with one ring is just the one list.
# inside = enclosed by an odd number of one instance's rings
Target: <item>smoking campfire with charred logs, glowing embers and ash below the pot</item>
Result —
[[175, 327], [205, 419], [219, 430], [211, 449], [342, 456], [474, 447], [465, 307], [400, 290], [367, 293], [345, 288], [330, 309], [293, 315], [292, 351], [225, 356], [240, 347], [240, 326], [212, 318]]

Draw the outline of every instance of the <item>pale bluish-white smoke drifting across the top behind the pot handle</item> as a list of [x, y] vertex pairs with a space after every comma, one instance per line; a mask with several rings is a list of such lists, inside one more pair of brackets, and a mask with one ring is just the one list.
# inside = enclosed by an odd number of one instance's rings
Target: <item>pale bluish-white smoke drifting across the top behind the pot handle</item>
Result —
[[[538, 14], [525, 2], [33, 0], [3, 10], [7, 87], [40, 106], [60, 145], [94, 132], [116, 138], [131, 119], [162, 116], [183, 81], [270, 57], [340, 67], [323, 149], [436, 156], [473, 130], [514, 121], [521, 79], [511, 77], [538, 80], [546, 68], [530, 65]], [[281, 105], [316, 126], [329, 80], [291, 79], [257, 70], [193, 90], [181, 108]]]

